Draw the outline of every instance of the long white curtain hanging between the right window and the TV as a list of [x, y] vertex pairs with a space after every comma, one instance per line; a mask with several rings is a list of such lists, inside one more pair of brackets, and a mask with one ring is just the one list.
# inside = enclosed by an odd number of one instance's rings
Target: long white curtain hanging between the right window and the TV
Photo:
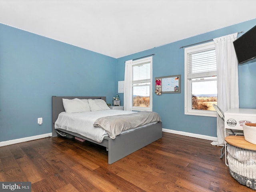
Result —
[[[236, 38], [237, 33], [214, 39], [217, 60], [218, 106], [223, 112], [230, 108], [239, 108], [238, 62], [233, 45]], [[217, 116], [218, 140], [211, 144], [223, 146], [225, 143], [224, 133], [224, 122]]]

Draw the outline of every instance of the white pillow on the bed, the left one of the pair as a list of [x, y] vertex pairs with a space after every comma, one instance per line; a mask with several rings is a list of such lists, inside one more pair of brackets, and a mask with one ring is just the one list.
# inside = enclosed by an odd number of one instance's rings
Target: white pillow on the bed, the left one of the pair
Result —
[[90, 111], [90, 106], [87, 99], [62, 99], [62, 103], [67, 113]]

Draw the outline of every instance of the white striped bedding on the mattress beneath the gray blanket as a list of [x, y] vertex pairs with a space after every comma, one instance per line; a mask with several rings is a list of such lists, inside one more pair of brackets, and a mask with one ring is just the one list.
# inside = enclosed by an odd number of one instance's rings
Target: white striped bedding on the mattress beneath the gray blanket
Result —
[[[92, 139], [96, 142], [101, 143], [108, 133], [100, 127], [94, 127], [95, 120], [104, 116], [114, 116], [121, 114], [135, 113], [134, 111], [122, 111], [122, 110], [100, 110], [100, 111], [88, 111], [80, 113], [66, 113], [61, 112], [58, 115], [58, 119], [54, 124], [55, 129], [64, 129], [71, 132], [78, 133], [84, 137]], [[154, 124], [153, 122], [151, 124]], [[145, 125], [145, 126], [148, 126]], [[127, 130], [126, 132], [132, 131]], [[122, 132], [123, 133], [123, 132]]]

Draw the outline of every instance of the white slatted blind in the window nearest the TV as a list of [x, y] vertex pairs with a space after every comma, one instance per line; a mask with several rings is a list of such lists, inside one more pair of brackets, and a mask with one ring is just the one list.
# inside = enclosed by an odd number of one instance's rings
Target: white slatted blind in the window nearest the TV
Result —
[[188, 79], [217, 75], [215, 49], [188, 53]]

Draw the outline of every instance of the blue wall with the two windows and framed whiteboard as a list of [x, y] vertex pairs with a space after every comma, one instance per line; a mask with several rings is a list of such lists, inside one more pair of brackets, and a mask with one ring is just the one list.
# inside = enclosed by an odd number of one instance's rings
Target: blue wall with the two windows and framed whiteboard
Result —
[[[118, 58], [117, 80], [124, 80], [126, 60], [155, 54], [153, 56], [153, 78], [181, 75], [180, 94], [153, 95], [153, 111], [160, 114], [163, 128], [216, 137], [216, 117], [184, 115], [184, 49], [180, 47], [235, 32], [246, 32], [255, 25], [256, 19]], [[240, 35], [242, 34], [238, 34], [238, 37]], [[240, 65], [238, 76], [240, 108], [256, 108], [256, 63]], [[123, 94], [120, 94], [120, 97], [123, 98]]]

